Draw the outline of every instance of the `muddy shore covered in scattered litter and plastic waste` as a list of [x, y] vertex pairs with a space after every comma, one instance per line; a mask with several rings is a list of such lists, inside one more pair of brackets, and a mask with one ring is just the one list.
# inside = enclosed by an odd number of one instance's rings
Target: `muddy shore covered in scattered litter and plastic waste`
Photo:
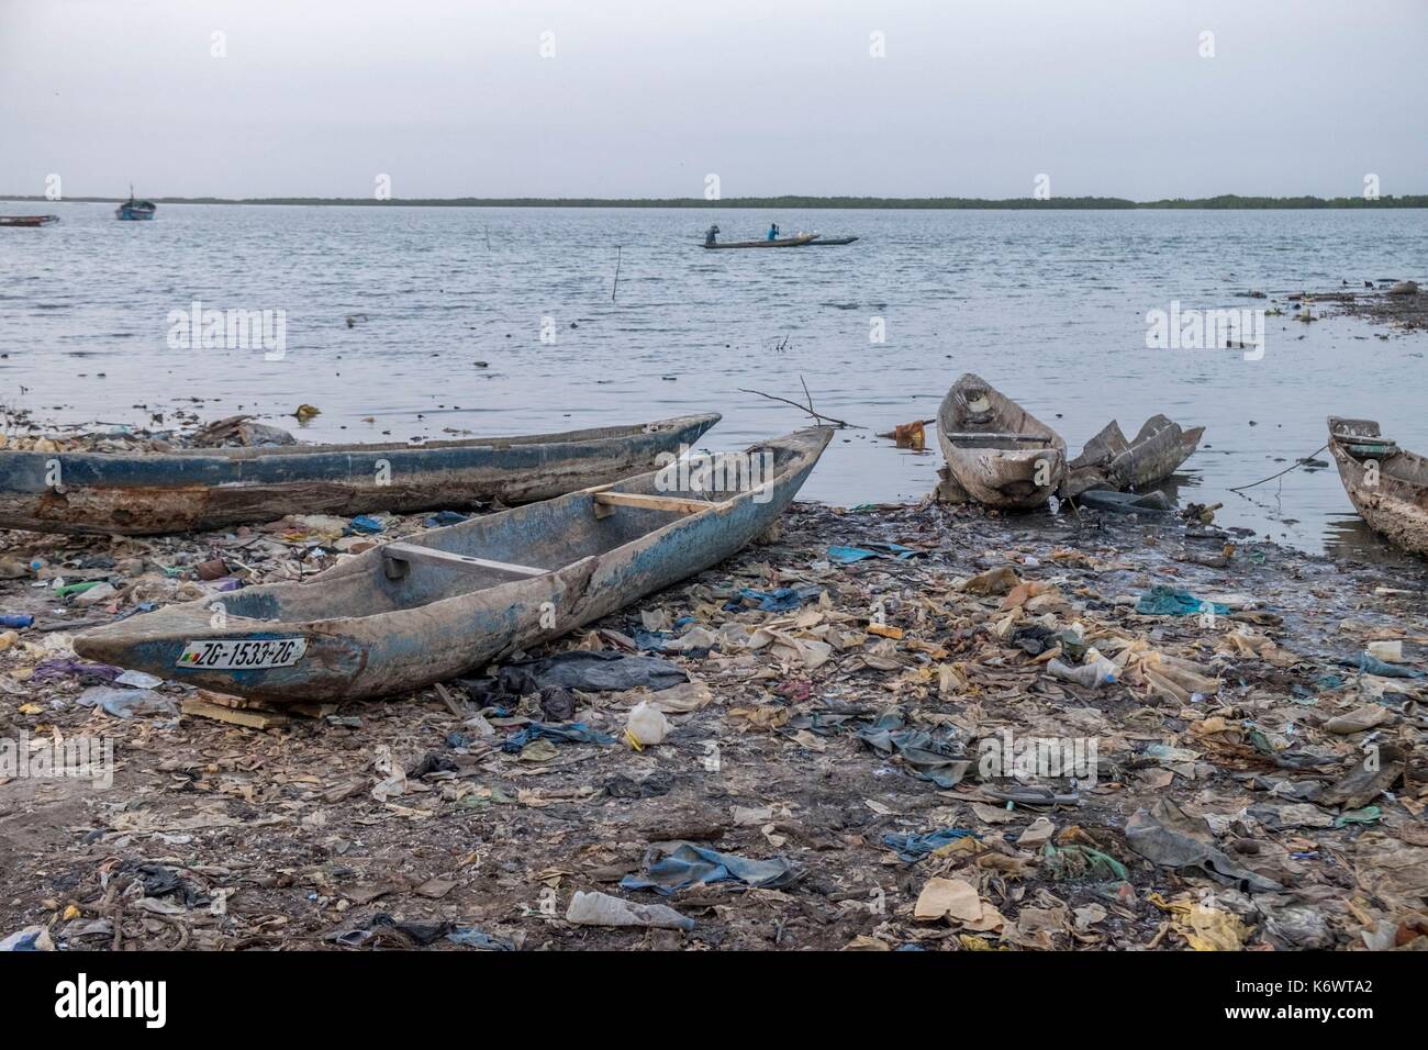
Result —
[[[1347, 780], [1361, 747], [1422, 741], [1419, 680], [1332, 660], [1397, 637], [1415, 667], [1428, 651], [1428, 566], [1354, 566], [1252, 541], [1217, 567], [1227, 536], [1212, 527], [1082, 514], [1028, 527], [935, 504], [794, 504], [730, 561], [545, 647], [618, 654], [635, 639], [704, 631], [707, 651], [645, 650], [691, 683], [664, 694], [673, 733], [644, 751], [620, 737], [631, 704], [660, 693], [573, 694], [574, 717], [615, 743], [511, 751], [501, 747], [510, 731], [550, 719], [541, 697], [503, 701], [484, 677], [306, 713], [220, 707], [217, 719], [180, 714], [188, 690], [164, 684], [150, 694], [154, 710], [116, 717], [80, 703], [106, 683], [63, 664], [66, 631], [26, 631], [39, 651], [0, 651], [6, 734], [109, 736], [119, 771], [103, 791], [74, 780], [0, 784], [0, 930], [40, 924], [63, 944], [97, 949], [1174, 950], [1201, 934], [1172, 909], [1201, 901], [1234, 947], [1391, 946], [1411, 911], [1401, 864], [1428, 863], [1418, 823], [1428, 769], [1409, 759], [1392, 800], [1361, 800], [1357, 789], [1354, 806], [1308, 796]], [[386, 533], [420, 527], [394, 520]], [[273, 529], [23, 536], [33, 534], [0, 539], [0, 561], [29, 544], [66, 579], [106, 574], [120, 584], [120, 613], [134, 599], [220, 586], [197, 574], [214, 557], [247, 566], [233, 571], [253, 581], [341, 557], [327, 537]], [[915, 553], [827, 556], [881, 541]], [[84, 564], [94, 569], [70, 567]], [[0, 581], [0, 603], [54, 600], [30, 583]], [[1210, 623], [1135, 611], [1137, 594], [1165, 583], [1224, 593], [1235, 607]], [[743, 589], [774, 587], [817, 597], [791, 611], [747, 600], [725, 609]], [[675, 627], [683, 617], [693, 623]], [[1060, 631], [1072, 623], [1125, 661], [1121, 680], [1090, 689], [1048, 674], [1048, 653], [1070, 659]], [[773, 644], [751, 647], [760, 630]], [[61, 667], [43, 684], [21, 680], [46, 661]], [[503, 703], [516, 704], [507, 717]], [[887, 743], [878, 719], [922, 736]], [[1007, 734], [1095, 741], [1097, 766], [1080, 780], [982, 776], [984, 741]], [[384, 754], [406, 770], [400, 790], [373, 771]], [[1068, 801], [1038, 804], [1034, 784]], [[1175, 810], [1204, 821], [1228, 880], [1177, 867], [1140, 837]], [[918, 836], [947, 829], [922, 850]], [[677, 841], [787, 863], [791, 881], [665, 899], [617, 886], [645, 870], [648, 850]], [[156, 900], [164, 919], [110, 909], [100, 870], [136, 901]], [[938, 879], [974, 887], [988, 921], [918, 919]], [[697, 926], [568, 923], [575, 890], [661, 901]]]

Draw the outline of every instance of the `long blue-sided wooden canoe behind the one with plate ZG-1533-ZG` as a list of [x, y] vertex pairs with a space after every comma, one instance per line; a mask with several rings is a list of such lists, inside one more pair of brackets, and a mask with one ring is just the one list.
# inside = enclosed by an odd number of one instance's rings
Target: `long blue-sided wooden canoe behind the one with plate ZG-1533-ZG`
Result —
[[424, 444], [196, 449], [169, 454], [0, 450], [0, 529], [177, 533], [356, 514], [531, 503], [678, 456], [717, 413], [563, 434]]

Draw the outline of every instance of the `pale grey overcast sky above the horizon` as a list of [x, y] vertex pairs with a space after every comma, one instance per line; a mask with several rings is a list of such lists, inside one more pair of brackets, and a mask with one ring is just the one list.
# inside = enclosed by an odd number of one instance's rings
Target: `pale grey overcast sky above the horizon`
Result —
[[0, 0], [0, 193], [1425, 193], [1425, 0]]

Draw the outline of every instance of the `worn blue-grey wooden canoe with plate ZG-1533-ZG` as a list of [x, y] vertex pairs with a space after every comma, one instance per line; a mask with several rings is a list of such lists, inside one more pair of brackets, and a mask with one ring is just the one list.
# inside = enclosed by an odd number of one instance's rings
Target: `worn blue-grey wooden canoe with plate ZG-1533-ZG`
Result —
[[[710, 457], [713, 477], [743, 479], [733, 494], [698, 470], [651, 471], [387, 543], [307, 583], [130, 616], [79, 634], [74, 650], [273, 703], [420, 689], [733, 556], [778, 519], [831, 436], [813, 427]], [[750, 484], [753, 463], [767, 471]]]

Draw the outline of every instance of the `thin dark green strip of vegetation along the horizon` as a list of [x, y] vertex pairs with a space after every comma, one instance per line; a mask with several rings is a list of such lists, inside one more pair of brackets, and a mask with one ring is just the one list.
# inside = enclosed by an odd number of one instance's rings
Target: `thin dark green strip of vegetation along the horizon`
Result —
[[[6, 200], [46, 200], [44, 197], [6, 197]], [[69, 197], [80, 203], [110, 204], [124, 197]], [[1378, 200], [1364, 197], [1220, 197], [1168, 200], [1125, 200], [1124, 197], [1007, 197], [984, 200], [980, 197], [725, 197], [704, 200], [703, 197], [631, 199], [617, 197], [408, 197], [373, 200], [368, 197], [149, 197], [159, 204], [347, 204], [371, 206], [396, 204], [404, 207], [691, 207], [691, 209], [1372, 209], [1372, 207], [1428, 207], [1428, 194], [1404, 197], [1385, 196]]]

